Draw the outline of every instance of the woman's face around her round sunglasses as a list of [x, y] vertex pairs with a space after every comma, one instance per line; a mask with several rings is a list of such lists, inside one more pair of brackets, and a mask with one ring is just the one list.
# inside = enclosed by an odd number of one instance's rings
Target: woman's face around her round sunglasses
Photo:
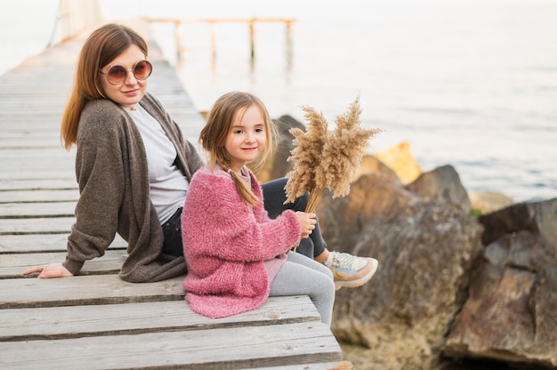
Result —
[[[141, 49], [132, 44], [129, 48], [111, 60], [108, 65], [101, 68], [101, 84], [104, 93], [111, 100], [120, 104], [125, 109], [134, 109], [135, 104], [141, 101], [147, 90], [147, 80], [138, 80], [133, 75], [133, 67], [140, 60], [145, 60], [145, 54]], [[125, 68], [125, 80], [121, 84], [111, 84], [107, 78], [109, 68], [119, 65]]]

